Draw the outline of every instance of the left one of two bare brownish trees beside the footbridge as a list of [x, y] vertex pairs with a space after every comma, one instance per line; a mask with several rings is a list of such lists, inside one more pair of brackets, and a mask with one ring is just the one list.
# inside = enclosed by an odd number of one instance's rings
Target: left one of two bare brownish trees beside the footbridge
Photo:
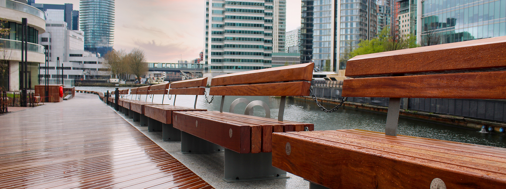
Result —
[[121, 74], [128, 71], [126, 66], [126, 53], [124, 50], [111, 50], [104, 55], [104, 66], [109, 70], [114, 78], [119, 78]]

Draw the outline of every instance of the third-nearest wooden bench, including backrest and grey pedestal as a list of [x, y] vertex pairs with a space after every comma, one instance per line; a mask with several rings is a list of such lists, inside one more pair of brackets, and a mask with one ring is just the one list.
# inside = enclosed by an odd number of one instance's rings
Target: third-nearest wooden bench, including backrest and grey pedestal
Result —
[[[175, 106], [175, 105], [146, 105], [145, 115], [148, 117], [148, 131], [161, 131], [163, 141], [179, 141], [181, 140], [181, 132], [175, 129], [172, 124], [172, 112], [175, 111], [206, 111], [205, 109], [197, 109], [198, 95], [204, 95], [207, 78], [198, 78], [191, 80], [183, 80], [173, 82], [171, 84], [152, 85], [149, 94], [166, 95], [195, 95], [193, 108]], [[171, 87], [171, 90], [169, 89]], [[174, 103], [176, 102], [174, 96]], [[163, 104], [164, 96], [162, 97]]]

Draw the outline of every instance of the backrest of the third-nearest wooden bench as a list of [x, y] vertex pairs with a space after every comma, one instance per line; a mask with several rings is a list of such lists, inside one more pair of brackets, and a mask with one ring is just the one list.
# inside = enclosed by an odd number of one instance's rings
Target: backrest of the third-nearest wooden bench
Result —
[[183, 80], [171, 83], [171, 90], [168, 94], [173, 95], [204, 95], [207, 77], [191, 80]]

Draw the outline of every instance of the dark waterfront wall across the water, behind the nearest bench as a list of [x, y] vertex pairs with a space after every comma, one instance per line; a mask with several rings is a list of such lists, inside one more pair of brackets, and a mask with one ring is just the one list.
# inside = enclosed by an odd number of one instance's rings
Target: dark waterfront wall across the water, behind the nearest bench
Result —
[[[342, 81], [313, 81], [314, 94], [325, 103], [342, 99]], [[349, 97], [345, 106], [387, 112], [388, 98]], [[506, 101], [488, 99], [403, 98], [401, 115], [479, 129], [506, 126]]]

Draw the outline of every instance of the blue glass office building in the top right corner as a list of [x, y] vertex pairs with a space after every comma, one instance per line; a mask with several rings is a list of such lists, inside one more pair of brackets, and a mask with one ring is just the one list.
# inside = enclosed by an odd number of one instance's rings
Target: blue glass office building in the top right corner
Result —
[[421, 1], [422, 46], [506, 35], [506, 0]]

